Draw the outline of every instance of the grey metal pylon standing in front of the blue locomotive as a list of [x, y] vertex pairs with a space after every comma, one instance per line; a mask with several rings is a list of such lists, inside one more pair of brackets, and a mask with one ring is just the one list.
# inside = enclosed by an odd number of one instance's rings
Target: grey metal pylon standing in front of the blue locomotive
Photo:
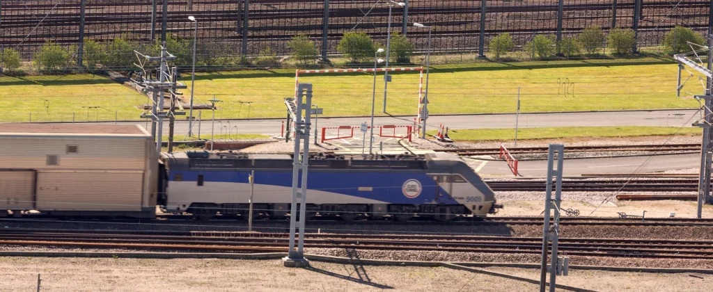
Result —
[[[302, 104], [304, 97], [305, 103]], [[294, 157], [292, 160], [292, 205], [289, 218], [289, 251], [282, 259], [284, 266], [304, 267], [309, 263], [304, 259], [304, 221], [307, 219], [307, 167], [309, 165], [309, 127], [312, 108], [312, 84], [299, 83], [297, 96], [285, 99], [289, 115], [294, 120]], [[304, 118], [302, 117], [304, 110]], [[302, 159], [300, 159], [299, 143], [302, 142]], [[302, 182], [300, 180], [302, 171]], [[298, 191], [299, 189], [299, 191]], [[297, 206], [299, 199], [299, 221], [297, 221]], [[295, 234], [299, 224], [299, 234]], [[297, 238], [297, 242], [295, 242]], [[297, 250], [295, 250], [297, 245]]]

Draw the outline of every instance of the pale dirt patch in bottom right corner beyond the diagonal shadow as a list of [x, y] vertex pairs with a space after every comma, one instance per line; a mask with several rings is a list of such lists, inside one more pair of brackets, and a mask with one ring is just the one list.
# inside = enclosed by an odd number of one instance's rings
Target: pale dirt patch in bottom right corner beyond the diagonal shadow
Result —
[[[540, 270], [535, 268], [484, 269], [523, 278], [540, 278]], [[549, 277], [548, 274], [548, 281]], [[713, 275], [570, 270], [568, 276], [558, 276], [557, 283], [595, 291], [710, 291]]]

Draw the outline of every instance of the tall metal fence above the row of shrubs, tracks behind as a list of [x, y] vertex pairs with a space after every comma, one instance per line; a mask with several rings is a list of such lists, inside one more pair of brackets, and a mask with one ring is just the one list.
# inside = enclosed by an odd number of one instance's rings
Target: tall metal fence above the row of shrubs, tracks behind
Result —
[[[659, 46], [674, 26], [707, 35], [710, 0], [403, 0], [394, 6], [391, 27], [406, 34], [416, 51], [426, 48], [425, 28], [434, 26], [436, 52], [485, 55], [488, 41], [511, 33], [516, 46], [535, 34], [574, 36], [588, 26], [632, 28], [637, 46]], [[60, 43], [75, 63], [83, 40], [124, 36], [150, 46], [166, 33], [193, 38], [199, 22], [199, 58], [287, 55], [287, 42], [309, 36], [322, 56], [337, 54], [345, 32], [366, 32], [385, 43], [389, 19], [385, 0], [2, 0], [0, 46], [29, 60], [45, 41]], [[324, 44], [324, 46], [323, 46]], [[111, 48], [110, 48], [111, 49]], [[131, 56], [128, 56], [131, 58]]]

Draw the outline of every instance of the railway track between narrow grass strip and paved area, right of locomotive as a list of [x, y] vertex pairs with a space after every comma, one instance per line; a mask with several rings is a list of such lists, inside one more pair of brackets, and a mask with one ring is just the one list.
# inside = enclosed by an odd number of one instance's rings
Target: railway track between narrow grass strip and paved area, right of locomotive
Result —
[[[652, 145], [592, 145], [567, 146], [565, 152], [670, 152], [670, 151], [700, 151], [700, 144], [652, 144]], [[500, 148], [471, 148], [434, 150], [448, 152], [460, 156], [499, 155]], [[513, 147], [508, 148], [512, 155], [548, 153], [548, 147]]]

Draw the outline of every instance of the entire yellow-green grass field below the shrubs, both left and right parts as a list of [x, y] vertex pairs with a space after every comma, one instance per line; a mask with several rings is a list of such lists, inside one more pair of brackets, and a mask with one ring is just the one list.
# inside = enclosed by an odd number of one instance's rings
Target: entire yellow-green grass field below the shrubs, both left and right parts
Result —
[[[675, 96], [677, 65], [667, 58], [585, 61], [472, 63], [432, 66], [429, 112], [512, 113], [520, 88], [521, 111], [628, 110], [696, 108], [698, 103]], [[190, 96], [190, 74], [183, 82]], [[425, 79], [425, 78], [424, 78]], [[369, 115], [373, 75], [303, 74], [314, 86], [313, 103], [324, 115]], [[0, 122], [71, 120], [138, 120], [136, 105], [147, 98], [106, 78], [93, 75], [0, 77]], [[386, 112], [415, 115], [419, 74], [394, 73]], [[699, 94], [697, 77], [683, 95]], [[196, 103], [215, 95], [216, 118], [282, 118], [283, 99], [294, 94], [294, 69], [197, 73]], [[384, 83], [376, 78], [376, 114], [381, 113]], [[98, 108], [92, 108], [98, 107]], [[210, 115], [209, 112], [204, 113]], [[197, 115], [194, 113], [194, 115]]]

